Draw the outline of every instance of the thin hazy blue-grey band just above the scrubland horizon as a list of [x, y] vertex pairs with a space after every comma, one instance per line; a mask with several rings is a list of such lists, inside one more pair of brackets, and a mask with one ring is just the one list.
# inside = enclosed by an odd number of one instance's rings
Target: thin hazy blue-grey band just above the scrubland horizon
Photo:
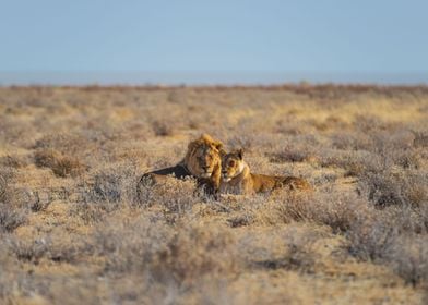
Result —
[[428, 72], [305, 71], [2, 71], [4, 85], [428, 84]]

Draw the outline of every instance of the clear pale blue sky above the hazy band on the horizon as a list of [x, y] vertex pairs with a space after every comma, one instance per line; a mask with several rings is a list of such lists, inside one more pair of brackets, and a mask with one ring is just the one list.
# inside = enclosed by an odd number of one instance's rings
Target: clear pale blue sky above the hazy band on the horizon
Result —
[[428, 1], [0, 0], [0, 72], [428, 72]]

